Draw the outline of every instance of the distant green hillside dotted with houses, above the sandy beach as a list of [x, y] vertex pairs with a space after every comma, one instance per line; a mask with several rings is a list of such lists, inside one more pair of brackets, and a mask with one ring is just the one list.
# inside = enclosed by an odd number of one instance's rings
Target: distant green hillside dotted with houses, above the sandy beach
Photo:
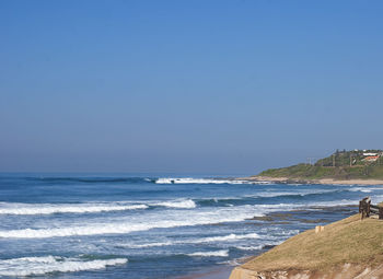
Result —
[[257, 176], [291, 179], [383, 179], [383, 152], [382, 150], [337, 150], [314, 164], [301, 163], [270, 168]]

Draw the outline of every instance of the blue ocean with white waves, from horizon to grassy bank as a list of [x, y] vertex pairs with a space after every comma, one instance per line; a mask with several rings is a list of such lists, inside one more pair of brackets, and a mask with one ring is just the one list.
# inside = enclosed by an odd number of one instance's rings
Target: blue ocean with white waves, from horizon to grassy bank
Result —
[[383, 186], [1, 174], [0, 278], [181, 278], [356, 213]]

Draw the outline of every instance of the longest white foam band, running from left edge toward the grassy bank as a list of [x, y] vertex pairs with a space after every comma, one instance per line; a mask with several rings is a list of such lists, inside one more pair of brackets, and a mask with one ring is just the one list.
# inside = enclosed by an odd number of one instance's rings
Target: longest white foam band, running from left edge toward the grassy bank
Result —
[[[185, 200], [182, 202], [185, 202]], [[153, 211], [150, 214], [146, 213], [146, 219], [142, 219], [141, 217], [136, 217], [136, 219], [125, 218], [120, 221], [113, 221], [106, 223], [93, 222], [81, 225], [66, 225], [40, 229], [26, 228], [0, 231], [0, 237], [44, 239], [72, 235], [126, 234], [130, 232], [148, 231], [151, 229], [166, 229], [176, 226], [205, 225], [222, 222], [237, 222], [249, 219], [254, 216], [263, 216], [267, 212], [272, 211], [341, 205], [358, 205], [358, 200], [336, 200], [307, 204], [279, 204], [254, 206], [246, 205], [237, 207], [220, 207], [216, 210], [199, 208], [197, 210], [183, 210], [182, 212], [178, 212], [176, 210], [170, 210], [165, 213], [161, 212], [161, 214], [156, 211]]]

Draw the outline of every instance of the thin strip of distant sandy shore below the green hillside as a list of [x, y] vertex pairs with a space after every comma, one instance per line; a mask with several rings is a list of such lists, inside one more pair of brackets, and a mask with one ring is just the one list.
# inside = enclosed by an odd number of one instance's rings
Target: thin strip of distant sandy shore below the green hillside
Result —
[[270, 177], [270, 176], [249, 176], [237, 177], [236, 179], [244, 179], [248, 182], [272, 182], [280, 184], [323, 184], [323, 185], [383, 185], [383, 179], [334, 179], [334, 178], [321, 178], [321, 179], [303, 179], [303, 178], [289, 178], [289, 177]]

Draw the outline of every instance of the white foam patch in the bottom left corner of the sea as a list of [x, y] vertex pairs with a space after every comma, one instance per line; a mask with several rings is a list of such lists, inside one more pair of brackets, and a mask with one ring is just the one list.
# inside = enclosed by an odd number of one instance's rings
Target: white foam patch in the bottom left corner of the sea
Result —
[[51, 272], [97, 270], [107, 266], [125, 265], [127, 261], [126, 258], [84, 261], [80, 258], [55, 256], [11, 258], [0, 260], [0, 276], [42, 276]]

